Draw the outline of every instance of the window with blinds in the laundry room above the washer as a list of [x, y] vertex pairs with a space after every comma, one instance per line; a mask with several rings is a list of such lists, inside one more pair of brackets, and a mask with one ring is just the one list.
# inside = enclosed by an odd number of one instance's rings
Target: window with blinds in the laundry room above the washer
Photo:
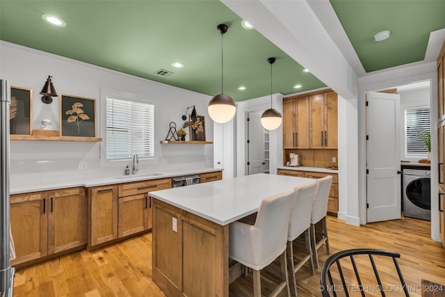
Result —
[[425, 143], [419, 137], [423, 131], [430, 131], [430, 107], [406, 107], [405, 157], [425, 157], [428, 155]]

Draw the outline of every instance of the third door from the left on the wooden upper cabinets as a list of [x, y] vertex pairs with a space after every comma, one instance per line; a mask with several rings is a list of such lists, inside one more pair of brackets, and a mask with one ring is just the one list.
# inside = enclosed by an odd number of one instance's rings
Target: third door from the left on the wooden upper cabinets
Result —
[[311, 148], [323, 148], [325, 138], [324, 102], [323, 94], [309, 97], [309, 147]]

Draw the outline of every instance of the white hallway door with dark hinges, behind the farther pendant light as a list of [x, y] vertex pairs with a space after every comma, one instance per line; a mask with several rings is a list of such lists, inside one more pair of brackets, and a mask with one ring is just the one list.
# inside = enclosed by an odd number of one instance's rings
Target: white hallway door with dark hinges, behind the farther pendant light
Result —
[[264, 128], [258, 111], [248, 113], [248, 166], [246, 175], [264, 172]]

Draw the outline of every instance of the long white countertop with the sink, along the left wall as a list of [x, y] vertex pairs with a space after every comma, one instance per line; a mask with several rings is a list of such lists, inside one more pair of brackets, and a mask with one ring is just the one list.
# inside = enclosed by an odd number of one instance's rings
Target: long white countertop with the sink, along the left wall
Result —
[[179, 177], [182, 175], [198, 175], [200, 173], [216, 172], [222, 169], [216, 168], [194, 168], [194, 169], [182, 169], [182, 170], [156, 170], [156, 172], [140, 172], [137, 175], [118, 175], [112, 177], [97, 176], [88, 179], [77, 179], [70, 181], [58, 182], [51, 180], [48, 183], [38, 185], [20, 185], [11, 186], [10, 194], [30, 193], [37, 191], [50, 191], [59, 188], [72, 188], [75, 186], [85, 186], [90, 188], [92, 186], [104, 186], [107, 184], [123, 184], [127, 182], [137, 182], [148, 179], [162, 179], [165, 177]]

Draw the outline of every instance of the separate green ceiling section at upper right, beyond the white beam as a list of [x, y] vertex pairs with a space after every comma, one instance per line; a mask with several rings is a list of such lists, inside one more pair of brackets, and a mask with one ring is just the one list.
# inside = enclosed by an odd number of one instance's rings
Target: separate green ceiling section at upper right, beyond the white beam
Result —
[[[423, 61], [430, 32], [445, 28], [444, 0], [330, 0], [366, 72]], [[387, 40], [375, 42], [380, 31]]]

